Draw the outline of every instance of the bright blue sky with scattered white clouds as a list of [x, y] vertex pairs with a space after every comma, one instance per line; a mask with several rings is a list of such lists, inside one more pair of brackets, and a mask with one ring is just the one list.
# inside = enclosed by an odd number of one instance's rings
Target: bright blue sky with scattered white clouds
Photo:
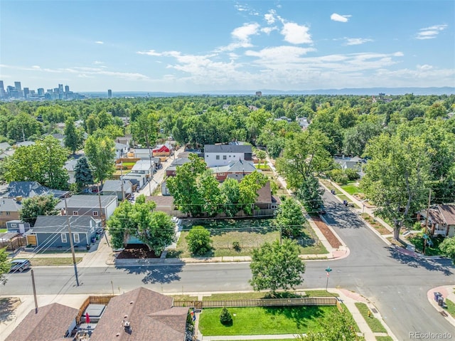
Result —
[[0, 0], [0, 80], [73, 91], [455, 86], [455, 1]]

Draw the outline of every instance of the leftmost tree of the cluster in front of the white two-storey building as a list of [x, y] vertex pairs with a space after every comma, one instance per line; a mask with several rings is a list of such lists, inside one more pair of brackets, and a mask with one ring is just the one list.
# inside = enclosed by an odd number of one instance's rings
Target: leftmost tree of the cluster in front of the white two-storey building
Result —
[[198, 190], [197, 179], [205, 169], [205, 162], [197, 154], [190, 154], [190, 162], [177, 167], [176, 176], [169, 177], [166, 185], [178, 210], [199, 216], [203, 213], [203, 197]]

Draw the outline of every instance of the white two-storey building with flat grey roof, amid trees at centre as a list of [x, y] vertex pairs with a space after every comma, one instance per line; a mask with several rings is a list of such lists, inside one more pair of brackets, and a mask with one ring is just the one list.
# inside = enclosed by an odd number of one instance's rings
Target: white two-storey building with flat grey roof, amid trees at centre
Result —
[[251, 145], [205, 145], [204, 159], [207, 167], [226, 166], [235, 160], [252, 161]]

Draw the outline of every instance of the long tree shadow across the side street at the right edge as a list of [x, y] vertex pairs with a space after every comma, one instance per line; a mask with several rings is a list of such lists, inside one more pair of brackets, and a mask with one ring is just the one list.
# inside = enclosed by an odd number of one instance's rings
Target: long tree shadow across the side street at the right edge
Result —
[[390, 252], [390, 258], [393, 258], [396, 261], [406, 264], [412, 268], [425, 268], [428, 271], [440, 271], [446, 276], [451, 276], [454, 273], [454, 266], [451, 264], [449, 259], [423, 258], [419, 255], [414, 256], [412, 254], [405, 253], [406, 251], [395, 246], [387, 246], [387, 249]]

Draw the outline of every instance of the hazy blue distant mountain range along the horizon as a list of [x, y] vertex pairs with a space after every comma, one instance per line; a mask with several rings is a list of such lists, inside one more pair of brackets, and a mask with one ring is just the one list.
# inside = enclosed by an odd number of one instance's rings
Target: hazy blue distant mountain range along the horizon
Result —
[[[414, 95], [454, 95], [454, 87], [442, 88], [343, 88], [343, 89], [320, 89], [320, 90], [223, 90], [208, 91], [200, 93], [164, 93], [152, 91], [112, 91], [113, 97], [176, 97], [176, 96], [201, 96], [201, 95], [255, 95], [256, 91], [261, 91], [263, 96], [266, 95], [405, 95], [412, 93]], [[107, 98], [107, 92], [82, 92], [87, 97]]]

